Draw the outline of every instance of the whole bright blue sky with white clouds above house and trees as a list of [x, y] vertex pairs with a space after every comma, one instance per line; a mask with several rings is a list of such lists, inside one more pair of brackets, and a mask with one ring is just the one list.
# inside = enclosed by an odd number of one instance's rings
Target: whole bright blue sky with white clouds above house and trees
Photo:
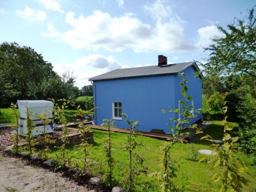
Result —
[[[117, 69], [207, 58], [203, 47], [247, 15], [254, 1], [0, 0], [0, 42], [16, 41], [41, 53], [76, 85]], [[242, 15], [241, 15], [242, 13]]]

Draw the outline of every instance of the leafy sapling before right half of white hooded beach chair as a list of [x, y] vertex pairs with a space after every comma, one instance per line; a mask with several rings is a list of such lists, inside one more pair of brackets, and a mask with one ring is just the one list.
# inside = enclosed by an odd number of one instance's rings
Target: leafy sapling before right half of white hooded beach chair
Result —
[[38, 144], [42, 145], [41, 150], [39, 150], [39, 156], [46, 160], [47, 152], [49, 151], [49, 144], [54, 143], [54, 141], [51, 140], [51, 135], [47, 134], [49, 131], [47, 125], [49, 125], [52, 120], [47, 117], [46, 112], [42, 112], [40, 115], [37, 115], [37, 118], [41, 120], [41, 124], [43, 126], [42, 130], [39, 130], [41, 135], [38, 136]]

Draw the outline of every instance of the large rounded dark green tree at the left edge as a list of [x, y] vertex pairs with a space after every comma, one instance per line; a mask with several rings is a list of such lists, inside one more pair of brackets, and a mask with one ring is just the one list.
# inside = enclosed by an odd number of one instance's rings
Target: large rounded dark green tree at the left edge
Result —
[[41, 54], [31, 47], [21, 47], [16, 42], [3, 42], [0, 51], [3, 53], [0, 72], [12, 84], [16, 96], [20, 99], [33, 97], [33, 89], [43, 78], [56, 75], [52, 64], [45, 61]]

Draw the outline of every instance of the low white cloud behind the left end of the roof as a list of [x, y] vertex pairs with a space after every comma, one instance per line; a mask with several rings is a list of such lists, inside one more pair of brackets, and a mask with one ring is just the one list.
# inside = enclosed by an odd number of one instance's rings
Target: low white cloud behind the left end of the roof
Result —
[[77, 77], [76, 86], [79, 88], [90, 84], [88, 79], [91, 77], [122, 68], [121, 64], [112, 55], [103, 56], [99, 54], [82, 57], [74, 63], [57, 63], [53, 66], [54, 71], [60, 75], [70, 70], [72, 66], [74, 76]]

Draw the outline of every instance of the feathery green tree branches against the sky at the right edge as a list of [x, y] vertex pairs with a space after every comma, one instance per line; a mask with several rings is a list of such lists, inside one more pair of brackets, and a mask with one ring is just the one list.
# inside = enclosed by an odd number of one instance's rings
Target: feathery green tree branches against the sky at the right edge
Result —
[[227, 29], [218, 26], [224, 37], [214, 38], [213, 44], [206, 48], [210, 58], [204, 64], [207, 74], [212, 76], [240, 75], [256, 77], [256, 28], [254, 7], [246, 19], [236, 18]]

